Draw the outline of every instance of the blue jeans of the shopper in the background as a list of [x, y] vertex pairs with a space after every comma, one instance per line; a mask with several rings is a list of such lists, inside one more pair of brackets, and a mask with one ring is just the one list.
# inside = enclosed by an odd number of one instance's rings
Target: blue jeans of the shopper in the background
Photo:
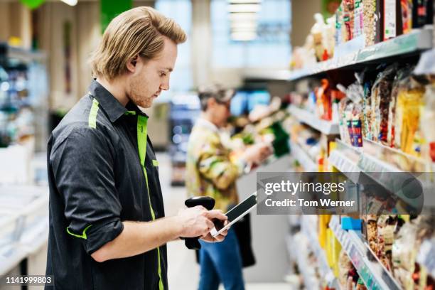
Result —
[[222, 242], [200, 240], [199, 290], [218, 290], [220, 282], [225, 290], [244, 290], [242, 257], [233, 229]]

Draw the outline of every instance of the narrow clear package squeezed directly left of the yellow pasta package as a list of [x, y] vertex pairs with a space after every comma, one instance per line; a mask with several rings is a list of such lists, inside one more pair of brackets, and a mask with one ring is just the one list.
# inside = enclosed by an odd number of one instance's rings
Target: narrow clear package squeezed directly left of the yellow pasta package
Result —
[[401, 68], [397, 71], [396, 76], [394, 77], [392, 92], [390, 97], [390, 103], [388, 105], [388, 129], [387, 129], [387, 145], [390, 147], [394, 147], [394, 135], [395, 135], [395, 114], [396, 114], [396, 105], [397, 105], [397, 94], [399, 93], [400, 86], [406, 83], [407, 78], [411, 75], [412, 70], [414, 68], [412, 66], [407, 65], [404, 68]]

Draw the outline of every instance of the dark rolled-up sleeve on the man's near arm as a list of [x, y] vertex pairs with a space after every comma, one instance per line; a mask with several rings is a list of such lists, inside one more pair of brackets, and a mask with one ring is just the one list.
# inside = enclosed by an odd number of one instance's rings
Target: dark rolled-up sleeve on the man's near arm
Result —
[[50, 154], [55, 185], [65, 202], [65, 234], [88, 254], [123, 230], [115, 187], [114, 148], [95, 128], [74, 129]]

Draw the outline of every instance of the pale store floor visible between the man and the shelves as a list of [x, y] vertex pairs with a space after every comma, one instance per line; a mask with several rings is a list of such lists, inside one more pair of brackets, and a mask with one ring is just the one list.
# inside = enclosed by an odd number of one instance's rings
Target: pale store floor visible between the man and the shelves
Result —
[[[157, 154], [159, 160], [159, 173], [163, 200], [165, 202], [166, 215], [176, 215], [178, 209], [183, 207], [186, 199], [186, 189], [183, 187], [171, 187], [171, 161], [168, 154]], [[172, 289], [193, 290], [198, 286], [199, 266], [195, 262], [193, 251], [186, 249], [184, 242], [168, 243], [168, 283]], [[223, 287], [221, 286], [221, 289]], [[291, 285], [286, 283], [274, 284], [247, 284], [247, 290], [289, 290]]]

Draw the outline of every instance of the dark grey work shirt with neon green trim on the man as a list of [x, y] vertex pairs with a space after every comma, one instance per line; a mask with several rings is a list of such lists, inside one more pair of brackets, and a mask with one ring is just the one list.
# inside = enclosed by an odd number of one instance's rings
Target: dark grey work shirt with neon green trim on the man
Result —
[[147, 119], [93, 80], [53, 130], [46, 274], [55, 286], [45, 289], [168, 289], [166, 245], [102, 263], [90, 256], [122, 232], [122, 221], [164, 216]]

